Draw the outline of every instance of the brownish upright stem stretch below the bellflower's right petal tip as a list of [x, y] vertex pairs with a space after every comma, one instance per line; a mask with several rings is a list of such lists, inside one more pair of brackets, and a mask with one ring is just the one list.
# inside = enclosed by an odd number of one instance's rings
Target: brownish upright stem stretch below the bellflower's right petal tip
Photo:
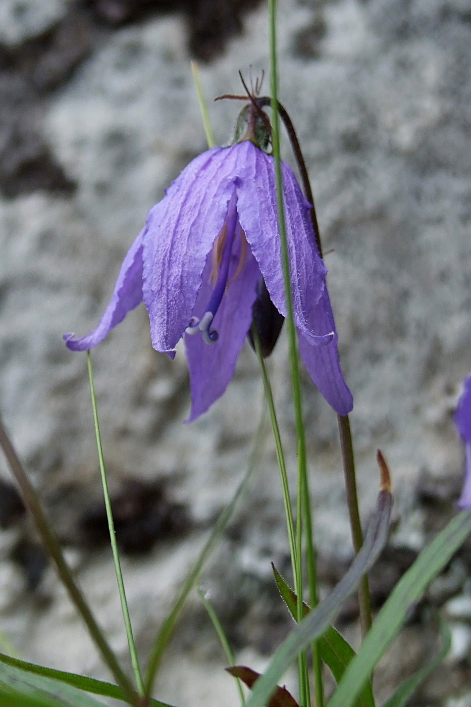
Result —
[[[356, 489], [356, 474], [353, 443], [348, 415], [337, 416], [339, 421], [340, 445], [342, 448], [342, 461], [344, 466], [345, 488], [347, 490], [347, 506], [349, 508], [351, 539], [355, 554], [359, 554], [363, 547], [363, 532], [358, 506], [358, 493]], [[360, 607], [361, 636], [364, 638], [371, 629], [371, 598], [368, 575], [364, 575], [358, 590]]]

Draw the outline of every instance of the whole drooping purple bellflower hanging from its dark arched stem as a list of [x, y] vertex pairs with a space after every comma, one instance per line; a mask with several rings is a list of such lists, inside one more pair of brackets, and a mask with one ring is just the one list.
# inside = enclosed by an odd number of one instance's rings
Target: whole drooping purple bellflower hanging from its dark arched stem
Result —
[[[177, 342], [185, 341], [189, 421], [226, 390], [262, 290], [286, 316], [274, 159], [264, 151], [266, 135], [264, 122], [247, 106], [238, 119], [235, 144], [192, 160], [149, 211], [98, 326], [85, 337], [64, 335], [72, 351], [91, 349], [144, 302], [156, 351], [173, 358]], [[311, 205], [291, 168], [282, 163], [281, 170], [301, 357], [327, 402], [346, 415], [353, 401], [339, 366], [327, 269], [315, 243]]]

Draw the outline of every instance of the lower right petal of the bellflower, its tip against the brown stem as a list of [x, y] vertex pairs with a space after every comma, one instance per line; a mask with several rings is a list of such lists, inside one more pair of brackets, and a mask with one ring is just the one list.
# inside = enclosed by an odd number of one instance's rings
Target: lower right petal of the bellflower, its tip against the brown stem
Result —
[[353, 409], [353, 397], [340, 370], [337, 332], [327, 287], [324, 288], [320, 300], [311, 313], [310, 327], [314, 334], [327, 330], [335, 332], [330, 344], [313, 346], [310, 339], [298, 330], [299, 352], [310, 377], [330, 406], [337, 414], [347, 415]]

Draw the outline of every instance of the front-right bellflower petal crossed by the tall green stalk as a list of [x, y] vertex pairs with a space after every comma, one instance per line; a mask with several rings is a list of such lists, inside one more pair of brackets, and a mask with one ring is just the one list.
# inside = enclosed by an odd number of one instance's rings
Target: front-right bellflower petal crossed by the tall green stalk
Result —
[[[240, 226], [245, 230], [272, 302], [286, 316], [274, 160], [252, 143], [243, 142], [236, 147]], [[310, 322], [324, 289], [327, 269], [315, 247], [310, 204], [303, 197], [291, 168], [281, 163], [281, 170], [294, 320], [296, 327], [309, 338], [314, 334]], [[326, 329], [315, 335], [331, 337], [331, 332], [332, 329]]]

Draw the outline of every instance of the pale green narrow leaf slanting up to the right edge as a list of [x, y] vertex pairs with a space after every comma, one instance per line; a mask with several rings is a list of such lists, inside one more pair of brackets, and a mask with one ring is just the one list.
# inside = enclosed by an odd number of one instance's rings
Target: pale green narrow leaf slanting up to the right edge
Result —
[[421, 551], [412, 567], [392, 590], [327, 707], [351, 707], [361, 684], [371, 674], [407, 619], [410, 605], [419, 600], [431, 580], [446, 566], [470, 533], [471, 513], [463, 510]]

